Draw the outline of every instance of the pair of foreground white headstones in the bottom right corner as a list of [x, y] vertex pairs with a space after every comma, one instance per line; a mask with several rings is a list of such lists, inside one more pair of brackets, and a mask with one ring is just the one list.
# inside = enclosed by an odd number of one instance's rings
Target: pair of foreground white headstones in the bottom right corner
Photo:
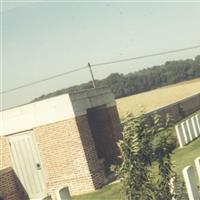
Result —
[[[195, 166], [200, 185], [200, 157], [195, 159]], [[183, 169], [183, 177], [189, 200], [200, 200], [200, 191], [198, 190], [198, 183], [192, 166], [187, 166]]]

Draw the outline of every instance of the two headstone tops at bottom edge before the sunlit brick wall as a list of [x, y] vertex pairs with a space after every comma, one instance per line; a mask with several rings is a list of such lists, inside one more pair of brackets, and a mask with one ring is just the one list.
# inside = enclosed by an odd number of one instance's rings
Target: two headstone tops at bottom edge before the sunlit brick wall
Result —
[[[63, 187], [55, 191], [56, 200], [71, 200], [71, 195], [68, 187]], [[40, 200], [52, 200], [51, 196], [46, 196]]]

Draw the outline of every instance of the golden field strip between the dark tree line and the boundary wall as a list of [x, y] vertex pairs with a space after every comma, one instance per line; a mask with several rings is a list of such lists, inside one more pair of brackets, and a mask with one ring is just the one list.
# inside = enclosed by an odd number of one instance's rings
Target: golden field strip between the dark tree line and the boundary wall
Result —
[[128, 112], [137, 116], [142, 110], [152, 111], [198, 92], [200, 92], [200, 78], [118, 99], [117, 107], [120, 117]]

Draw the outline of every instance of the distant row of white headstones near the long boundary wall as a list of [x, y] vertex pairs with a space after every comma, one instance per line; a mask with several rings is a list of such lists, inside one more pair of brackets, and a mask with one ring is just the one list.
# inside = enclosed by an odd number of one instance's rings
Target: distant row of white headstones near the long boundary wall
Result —
[[182, 148], [195, 138], [200, 137], [200, 114], [179, 123], [175, 129], [179, 145]]

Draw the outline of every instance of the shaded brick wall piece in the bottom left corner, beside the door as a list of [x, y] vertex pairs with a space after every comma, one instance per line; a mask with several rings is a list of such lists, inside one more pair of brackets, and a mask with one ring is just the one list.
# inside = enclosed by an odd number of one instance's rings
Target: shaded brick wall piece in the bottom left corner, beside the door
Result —
[[27, 200], [28, 196], [12, 168], [0, 170], [0, 197], [4, 200]]

